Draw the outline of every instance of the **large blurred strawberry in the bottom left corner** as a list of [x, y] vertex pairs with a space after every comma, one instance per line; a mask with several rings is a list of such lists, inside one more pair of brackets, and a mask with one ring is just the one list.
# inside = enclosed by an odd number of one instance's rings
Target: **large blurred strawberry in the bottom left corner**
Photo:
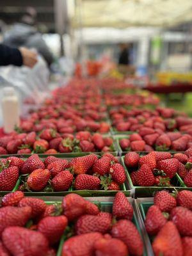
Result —
[[40, 232], [23, 227], [8, 227], [2, 234], [3, 244], [13, 256], [47, 256], [49, 243]]

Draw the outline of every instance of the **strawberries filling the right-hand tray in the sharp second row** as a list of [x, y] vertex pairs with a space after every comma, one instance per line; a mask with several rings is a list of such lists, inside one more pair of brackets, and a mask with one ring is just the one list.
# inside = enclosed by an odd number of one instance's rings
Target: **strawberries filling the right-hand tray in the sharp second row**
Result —
[[145, 156], [129, 152], [124, 158], [133, 186], [178, 186], [176, 173], [187, 187], [192, 187], [192, 148], [172, 156], [170, 152], [152, 151]]

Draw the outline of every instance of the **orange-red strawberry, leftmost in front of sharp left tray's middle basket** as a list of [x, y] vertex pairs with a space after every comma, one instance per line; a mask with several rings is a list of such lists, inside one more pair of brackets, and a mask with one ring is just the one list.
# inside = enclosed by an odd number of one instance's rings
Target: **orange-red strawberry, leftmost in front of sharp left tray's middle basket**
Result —
[[47, 186], [50, 177], [51, 173], [48, 169], [36, 169], [28, 177], [28, 188], [32, 191], [42, 191]]

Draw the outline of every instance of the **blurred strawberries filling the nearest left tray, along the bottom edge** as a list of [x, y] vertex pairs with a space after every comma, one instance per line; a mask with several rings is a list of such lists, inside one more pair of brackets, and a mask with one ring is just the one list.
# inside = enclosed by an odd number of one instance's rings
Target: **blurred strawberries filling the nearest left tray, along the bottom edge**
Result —
[[133, 212], [122, 192], [110, 213], [76, 194], [65, 196], [61, 205], [46, 205], [16, 191], [1, 202], [0, 255], [55, 256], [65, 233], [62, 256], [141, 256], [143, 241]]

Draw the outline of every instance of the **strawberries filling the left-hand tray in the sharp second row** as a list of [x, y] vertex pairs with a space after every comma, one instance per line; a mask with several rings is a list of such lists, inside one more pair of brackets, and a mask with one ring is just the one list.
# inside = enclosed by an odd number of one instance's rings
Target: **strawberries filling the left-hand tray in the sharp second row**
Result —
[[0, 191], [12, 191], [22, 175], [22, 191], [120, 190], [126, 175], [118, 159], [106, 153], [76, 157], [71, 161], [54, 156], [42, 161], [37, 154], [26, 161], [10, 156], [1, 159]]

